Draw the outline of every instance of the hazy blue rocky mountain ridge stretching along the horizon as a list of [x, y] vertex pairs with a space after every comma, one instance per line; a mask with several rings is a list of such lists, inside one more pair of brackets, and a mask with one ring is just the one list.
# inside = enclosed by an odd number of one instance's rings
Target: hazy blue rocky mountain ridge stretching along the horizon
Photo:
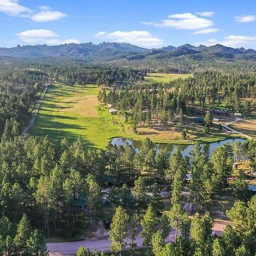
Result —
[[9, 57], [76, 57], [86, 60], [139, 60], [150, 57], [151, 59], [168, 59], [181, 55], [195, 55], [200, 57], [229, 57], [234, 55], [256, 56], [254, 49], [232, 48], [216, 44], [215, 46], [192, 46], [183, 44], [179, 47], [167, 46], [163, 48], [142, 48], [128, 43], [100, 43], [93, 44], [61, 44], [59, 46], [17, 46], [0, 48], [0, 56]]

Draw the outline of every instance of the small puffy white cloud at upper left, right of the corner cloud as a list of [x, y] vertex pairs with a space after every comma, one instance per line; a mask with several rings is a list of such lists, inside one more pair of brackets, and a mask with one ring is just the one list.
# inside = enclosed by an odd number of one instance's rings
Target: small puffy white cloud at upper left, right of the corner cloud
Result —
[[61, 13], [60, 11], [51, 11], [49, 6], [40, 6], [41, 11], [31, 16], [31, 19], [36, 22], [48, 22], [52, 20], [61, 19], [67, 14]]

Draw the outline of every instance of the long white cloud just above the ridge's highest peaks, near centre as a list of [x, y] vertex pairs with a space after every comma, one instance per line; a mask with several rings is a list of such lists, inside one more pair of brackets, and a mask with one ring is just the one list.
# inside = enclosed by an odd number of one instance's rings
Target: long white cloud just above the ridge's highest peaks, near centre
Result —
[[111, 33], [99, 32], [94, 36], [110, 39], [117, 43], [130, 43], [141, 47], [162, 46], [164, 43], [163, 39], [152, 36], [148, 31], [114, 31]]

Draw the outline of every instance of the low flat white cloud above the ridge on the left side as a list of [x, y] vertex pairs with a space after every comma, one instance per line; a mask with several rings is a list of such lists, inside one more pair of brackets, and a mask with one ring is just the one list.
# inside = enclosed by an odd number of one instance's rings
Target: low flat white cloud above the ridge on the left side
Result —
[[16, 34], [18, 38], [24, 43], [46, 43], [46, 44], [69, 44], [80, 43], [76, 39], [60, 40], [52, 30], [26, 30]]

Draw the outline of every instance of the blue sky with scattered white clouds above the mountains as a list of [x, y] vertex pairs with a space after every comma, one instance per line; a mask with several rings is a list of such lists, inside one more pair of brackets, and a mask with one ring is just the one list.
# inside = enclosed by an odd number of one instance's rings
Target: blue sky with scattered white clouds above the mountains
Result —
[[256, 0], [0, 0], [0, 47], [130, 43], [256, 49]]

